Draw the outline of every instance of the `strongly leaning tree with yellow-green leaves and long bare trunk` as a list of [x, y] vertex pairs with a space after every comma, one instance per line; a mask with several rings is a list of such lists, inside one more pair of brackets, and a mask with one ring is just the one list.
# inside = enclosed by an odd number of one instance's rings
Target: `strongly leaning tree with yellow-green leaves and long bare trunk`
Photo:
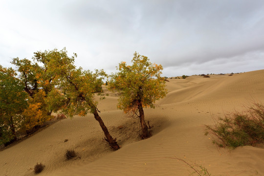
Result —
[[103, 70], [83, 70], [74, 66], [76, 54], [67, 56], [66, 49], [48, 51], [50, 61], [47, 64], [46, 74], [53, 74], [55, 86], [48, 94], [47, 104], [56, 111], [61, 111], [72, 117], [73, 115], [85, 116], [92, 113], [105, 133], [105, 139], [114, 150], [118, 150], [116, 139], [110, 135], [103, 120], [99, 116], [95, 94], [103, 95], [103, 78], [106, 76]]

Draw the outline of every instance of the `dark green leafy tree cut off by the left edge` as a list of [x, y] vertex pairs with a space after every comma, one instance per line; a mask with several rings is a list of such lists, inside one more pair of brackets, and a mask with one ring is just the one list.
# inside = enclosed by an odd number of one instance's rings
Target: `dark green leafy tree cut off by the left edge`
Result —
[[0, 66], [0, 144], [16, 140], [16, 128], [27, 107], [27, 93], [12, 68]]

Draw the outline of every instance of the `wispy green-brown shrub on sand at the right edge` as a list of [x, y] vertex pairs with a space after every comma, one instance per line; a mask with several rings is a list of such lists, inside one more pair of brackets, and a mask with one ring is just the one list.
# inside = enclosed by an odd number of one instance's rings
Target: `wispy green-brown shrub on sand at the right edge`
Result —
[[264, 105], [254, 103], [244, 112], [235, 112], [219, 118], [215, 125], [206, 125], [205, 135], [220, 147], [236, 148], [264, 142]]

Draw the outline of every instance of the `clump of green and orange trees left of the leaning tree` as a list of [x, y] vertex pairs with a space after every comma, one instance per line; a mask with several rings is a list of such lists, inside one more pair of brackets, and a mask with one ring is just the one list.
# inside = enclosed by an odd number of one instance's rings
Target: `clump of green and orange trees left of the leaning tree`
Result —
[[14, 58], [17, 68], [0, 66], [0, 145], [16, 141], [18, 133], [28, 135], [53, 118], [46, 104], [52, 88], [52, 74], [46, 74], [49, 60], [34, 53], [33, 62]]

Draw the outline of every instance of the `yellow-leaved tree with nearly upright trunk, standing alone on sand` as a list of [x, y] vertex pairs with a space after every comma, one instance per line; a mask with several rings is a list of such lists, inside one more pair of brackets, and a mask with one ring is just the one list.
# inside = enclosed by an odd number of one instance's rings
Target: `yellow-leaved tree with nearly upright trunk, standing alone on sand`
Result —
[[164, 78], [160, 76], [162, 69], [135, 52], [131, 66], [121, 62], [119, 71], [110, 76], [109, 88], [120, 94], [117, 107], [139, 117], [142, 139], [150, 136], [143, 108], [155, 108], [155, 101], [167, 94]]

